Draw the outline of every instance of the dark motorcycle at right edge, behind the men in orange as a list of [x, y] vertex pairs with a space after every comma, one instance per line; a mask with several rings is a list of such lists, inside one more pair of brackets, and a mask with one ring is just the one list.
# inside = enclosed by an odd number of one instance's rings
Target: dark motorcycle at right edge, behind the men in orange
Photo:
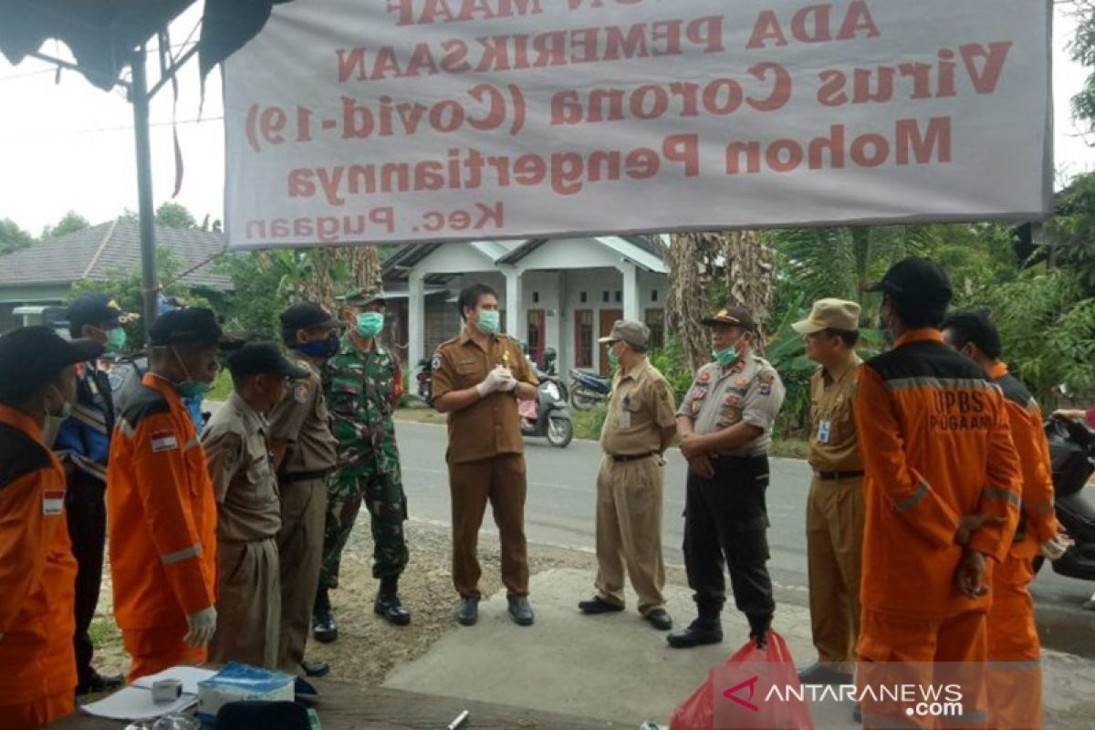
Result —
[[[1052, 561], [1053, 572], [1080, 580], [1095, 580], [1095, 505], [1084, 485], [1095, 472], [1095, 432], [1083, 424], [1051, 418], [1045, 424], [1053, 467], [1053, 508], [1057, 521], [1074, 541]], [[1037, 572], [1045, 558], [1034, 560]]]

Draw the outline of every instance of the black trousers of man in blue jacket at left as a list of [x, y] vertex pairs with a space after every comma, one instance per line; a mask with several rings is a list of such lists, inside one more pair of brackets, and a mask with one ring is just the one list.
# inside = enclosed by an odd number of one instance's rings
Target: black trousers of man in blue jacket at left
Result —
[[83, 684], [92, 674], [94, 649], [88, 629], [99, 604], [106, 545], [106, 485], [80, 471], [71, 471], [65, 495], [69, 540], [77, 561], [76, 573], [76, 671]]

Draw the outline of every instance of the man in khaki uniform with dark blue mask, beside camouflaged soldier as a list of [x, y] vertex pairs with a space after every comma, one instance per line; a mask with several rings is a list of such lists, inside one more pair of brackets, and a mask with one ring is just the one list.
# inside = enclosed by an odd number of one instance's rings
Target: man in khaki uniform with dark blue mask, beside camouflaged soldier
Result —
[[281, 567], [281, 631], [278, 669], [323, 676], [325, 662], [306, 662], [312, 603], [320, 584], [327, 476], [337, 464], [338, 441], [323, 397], [323, 363], [338, 354], [346, 326], [312, 302], [281, 313], [281, 338], [289, 359], [308, 374], [292, 382], [289, 395], [270, 412], [270, 451], [281, 493], [281, 529], [277, 534]]

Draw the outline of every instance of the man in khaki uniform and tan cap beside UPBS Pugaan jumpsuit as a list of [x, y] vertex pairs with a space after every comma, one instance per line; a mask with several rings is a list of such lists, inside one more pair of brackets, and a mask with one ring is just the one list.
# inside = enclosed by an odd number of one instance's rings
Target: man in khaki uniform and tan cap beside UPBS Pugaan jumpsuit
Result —
[[810, 466], [806, 502], [806, 557], [810, 624], [818, 661], [799, 673], [809, 684], [852, 681], [860, 636], [860, 563], [863, 553], [863, 462], [852, 399], [862, 360], [860, 305], [822, 299], [792, 325], [818, 363], [810, 376]]

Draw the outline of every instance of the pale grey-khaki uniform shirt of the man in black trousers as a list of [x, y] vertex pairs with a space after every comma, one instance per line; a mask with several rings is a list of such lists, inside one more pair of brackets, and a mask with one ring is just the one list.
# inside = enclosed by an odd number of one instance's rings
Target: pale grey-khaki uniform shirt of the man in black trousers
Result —
[[772, 445], [772, 425], [784, 396], [783, 381], [768, 360], [748, 355], [723, 369], [717, 362], [700, 368], [678, 416], [692, 419], [700, 436], [746, 422], [762, 433], [723, 456], [759, 456]]

